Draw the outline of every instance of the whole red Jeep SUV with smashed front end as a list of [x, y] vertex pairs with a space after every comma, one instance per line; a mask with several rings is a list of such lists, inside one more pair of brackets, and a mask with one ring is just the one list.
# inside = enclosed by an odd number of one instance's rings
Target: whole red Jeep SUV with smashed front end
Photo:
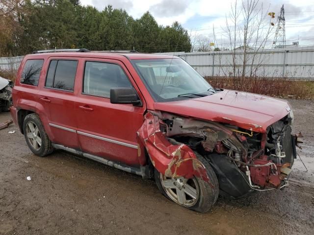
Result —
[[155, 178], [164, 196], [195, 211], [218, 194], [287, 186], [296, 157], [288, 102], [213, 88], [176, 56], [35, 51], [12, 95], [34, 154], [62, 149]]

